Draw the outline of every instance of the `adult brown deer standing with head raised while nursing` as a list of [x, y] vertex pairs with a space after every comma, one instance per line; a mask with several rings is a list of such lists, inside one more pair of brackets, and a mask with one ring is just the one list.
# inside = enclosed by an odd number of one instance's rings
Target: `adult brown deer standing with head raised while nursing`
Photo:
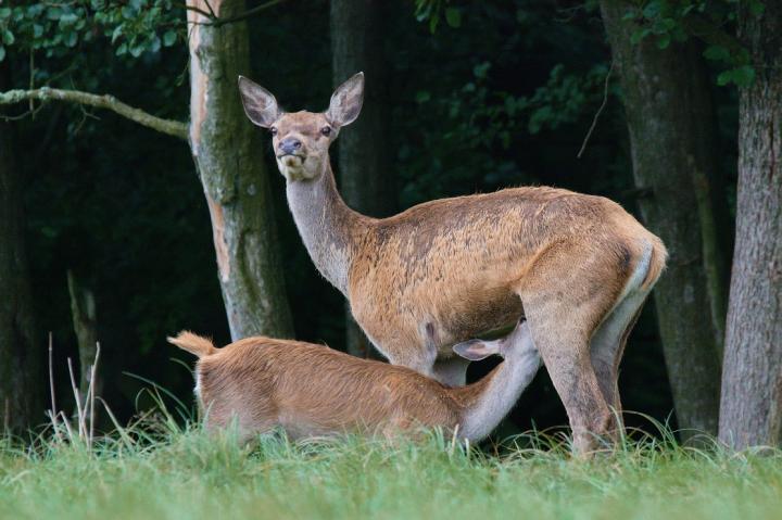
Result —
[[663, 242], [618, 204], [554, 188], [442, 199], [369, 218], [340, 198], [329, 147], [358, 116], [364, 75], [324, 113], [282, 112], [240, 77], [244, 112], [273, 135], [288, 205], [320, 274], [350, 301], [394, 365], [449, 384], [466, 365], [451, 345], [526, 316], [573, 431], [573, 449], [614, 434], [627, 337], [665, 267]]

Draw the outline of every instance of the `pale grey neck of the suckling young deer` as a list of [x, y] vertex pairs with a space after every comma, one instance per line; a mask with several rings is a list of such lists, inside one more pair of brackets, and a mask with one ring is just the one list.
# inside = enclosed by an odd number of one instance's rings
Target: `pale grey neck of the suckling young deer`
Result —
[[539, 367], [538, 353], [525, 352], [508, 357], [480, 381], [452, 389], [463, 403], [458, 435], [469, 441], [489, 435], [514, 407]]

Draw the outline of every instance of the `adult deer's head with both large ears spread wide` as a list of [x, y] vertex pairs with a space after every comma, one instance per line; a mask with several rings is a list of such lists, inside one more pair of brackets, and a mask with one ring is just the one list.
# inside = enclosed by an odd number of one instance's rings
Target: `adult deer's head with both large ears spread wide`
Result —
[[250, 79], [239, 76], [244, 113], [255, 125], [268, 128], [280, 174], [289, 181], [312, 180], [328, 165], [328, 149], [340, 128], [353, 123], [364, 101], [364, 73], [358, 73], [333, 94], [326, 112], [286, 113], [275, 97]]

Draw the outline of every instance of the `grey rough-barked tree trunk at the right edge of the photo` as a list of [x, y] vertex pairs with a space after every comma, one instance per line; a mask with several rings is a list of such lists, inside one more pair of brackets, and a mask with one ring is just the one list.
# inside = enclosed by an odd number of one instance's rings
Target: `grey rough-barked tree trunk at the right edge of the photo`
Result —
[[[757, 73], [739, 105], [736, 244], [730, 289], [720, 440], [782, 442], [782, 2], [740, 13]], [[746, 7], [744, 7], [746, 9]]]

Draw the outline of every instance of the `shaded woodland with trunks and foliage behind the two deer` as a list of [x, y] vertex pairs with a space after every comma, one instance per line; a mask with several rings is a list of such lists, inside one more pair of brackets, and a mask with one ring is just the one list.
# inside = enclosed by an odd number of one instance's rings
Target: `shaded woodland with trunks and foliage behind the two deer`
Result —
[[[152, 405], [144, 380], [191, 402], [165, 343], [180, 329], [375, 355], [307, 256], [236, 84], [321, 111], [364, 71], [332, 151], [351, 207], [522, 185], [617, 201], [670, 252], [621, 365], [625, 409], [683, 439], [778, 444], [780, 21], [782, 2], [730, 0], [0, 5], [5, 426], [46, 422], [50, 331], [59, 395], [97, 340], [123, 420]], [[541, 370], [496, 435], [566, 423]]]

